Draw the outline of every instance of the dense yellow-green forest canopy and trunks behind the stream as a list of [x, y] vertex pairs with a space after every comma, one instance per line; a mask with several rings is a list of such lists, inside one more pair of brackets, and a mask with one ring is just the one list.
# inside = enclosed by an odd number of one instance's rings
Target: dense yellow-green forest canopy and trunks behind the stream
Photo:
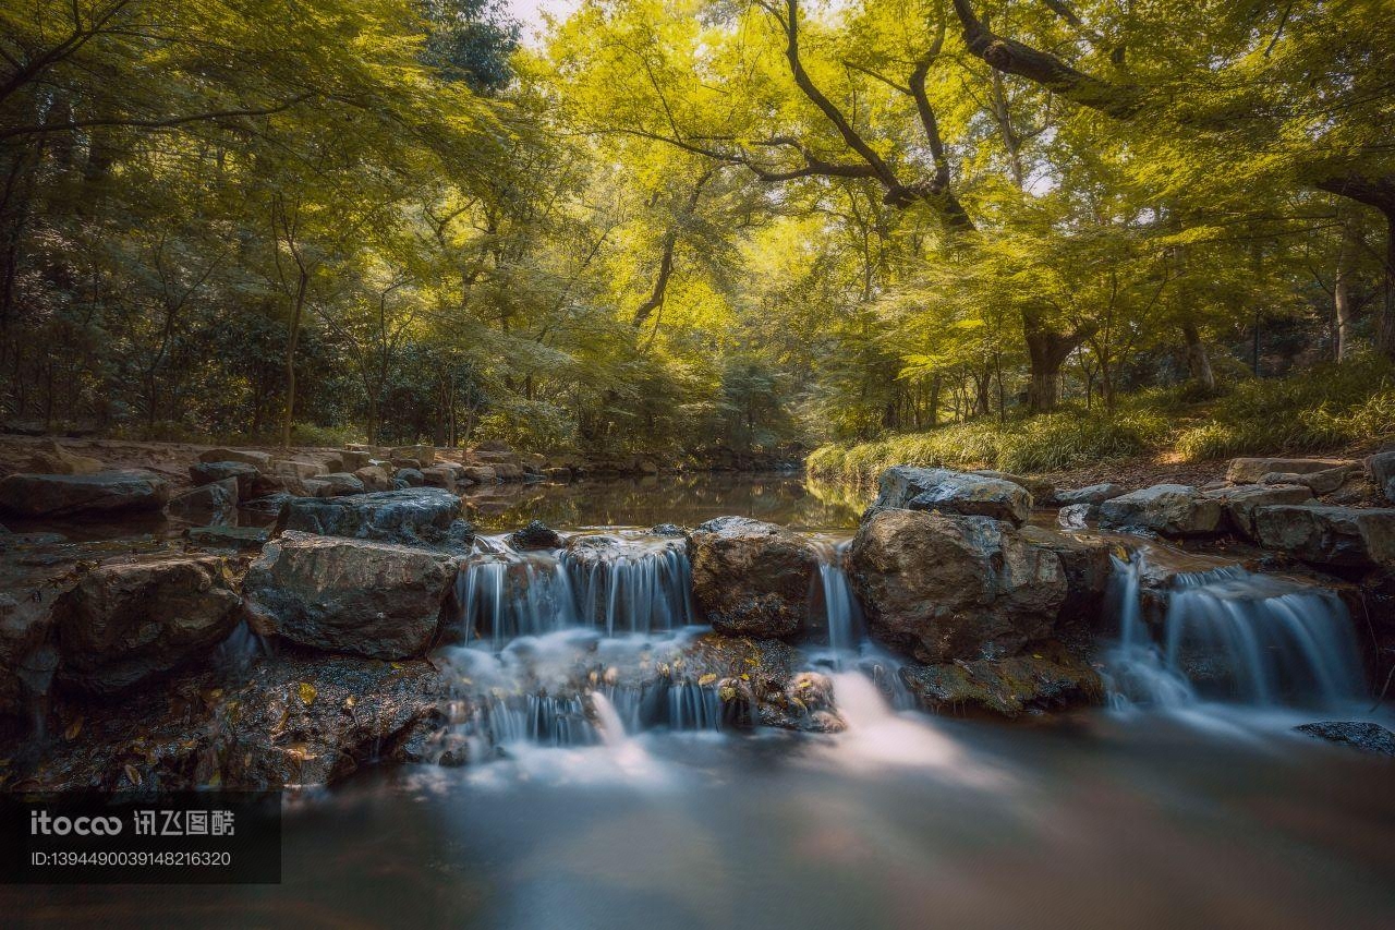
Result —
[[1038, 466], [1023, 423], [1127, 452], [1202, 402], [1196, 454], [1395, 430], [1388, 0], [0, 8], [11, 423]]

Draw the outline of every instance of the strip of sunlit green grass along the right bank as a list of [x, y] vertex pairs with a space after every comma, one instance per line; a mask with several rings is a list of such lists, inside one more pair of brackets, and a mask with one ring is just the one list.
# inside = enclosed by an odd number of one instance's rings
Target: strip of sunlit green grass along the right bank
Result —
[[1244, 381], [1193, 402], [1184, 388], [1122, 398], [1113, 413], [1067, 409], [1006, 423], [985, 419], [870, 443], [831, 444], [809, 475], [869, 483], [891, 465], [1052, 472], [1144, 454], [1202, 461], [1244, 454], [1327, 452], [1395, 437], [1395, 364], [1366, 357], [1288, 378]]

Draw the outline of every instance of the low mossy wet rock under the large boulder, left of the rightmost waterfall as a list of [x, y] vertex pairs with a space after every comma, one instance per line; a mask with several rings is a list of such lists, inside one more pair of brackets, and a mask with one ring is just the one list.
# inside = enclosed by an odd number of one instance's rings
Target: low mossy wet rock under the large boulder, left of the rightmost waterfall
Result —
[[1099, 674], [1057, 644], [1006, 659], [908, 665], [901, 681], [935, 714], [985, 711], [1017, 718], [1031, 711], [1096, 705], [1105, 700]]

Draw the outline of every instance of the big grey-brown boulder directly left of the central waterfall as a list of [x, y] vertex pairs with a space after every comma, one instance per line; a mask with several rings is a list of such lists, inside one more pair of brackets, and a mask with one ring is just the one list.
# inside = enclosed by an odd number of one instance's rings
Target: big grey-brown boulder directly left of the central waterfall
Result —
[[252, 627], [375, 659], [421, 655], [441, 627], [458, 560], [430, 549], [289, 531], [243, 581]]

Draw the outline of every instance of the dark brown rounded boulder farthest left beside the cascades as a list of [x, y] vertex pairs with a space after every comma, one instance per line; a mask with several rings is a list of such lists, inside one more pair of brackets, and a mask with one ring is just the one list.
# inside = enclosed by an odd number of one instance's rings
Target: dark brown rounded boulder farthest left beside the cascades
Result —
[[223, 559], [160, 559], [95, 568], [54, 603], [59, 681], [112, 695], [205, 655], [237, 626]]

